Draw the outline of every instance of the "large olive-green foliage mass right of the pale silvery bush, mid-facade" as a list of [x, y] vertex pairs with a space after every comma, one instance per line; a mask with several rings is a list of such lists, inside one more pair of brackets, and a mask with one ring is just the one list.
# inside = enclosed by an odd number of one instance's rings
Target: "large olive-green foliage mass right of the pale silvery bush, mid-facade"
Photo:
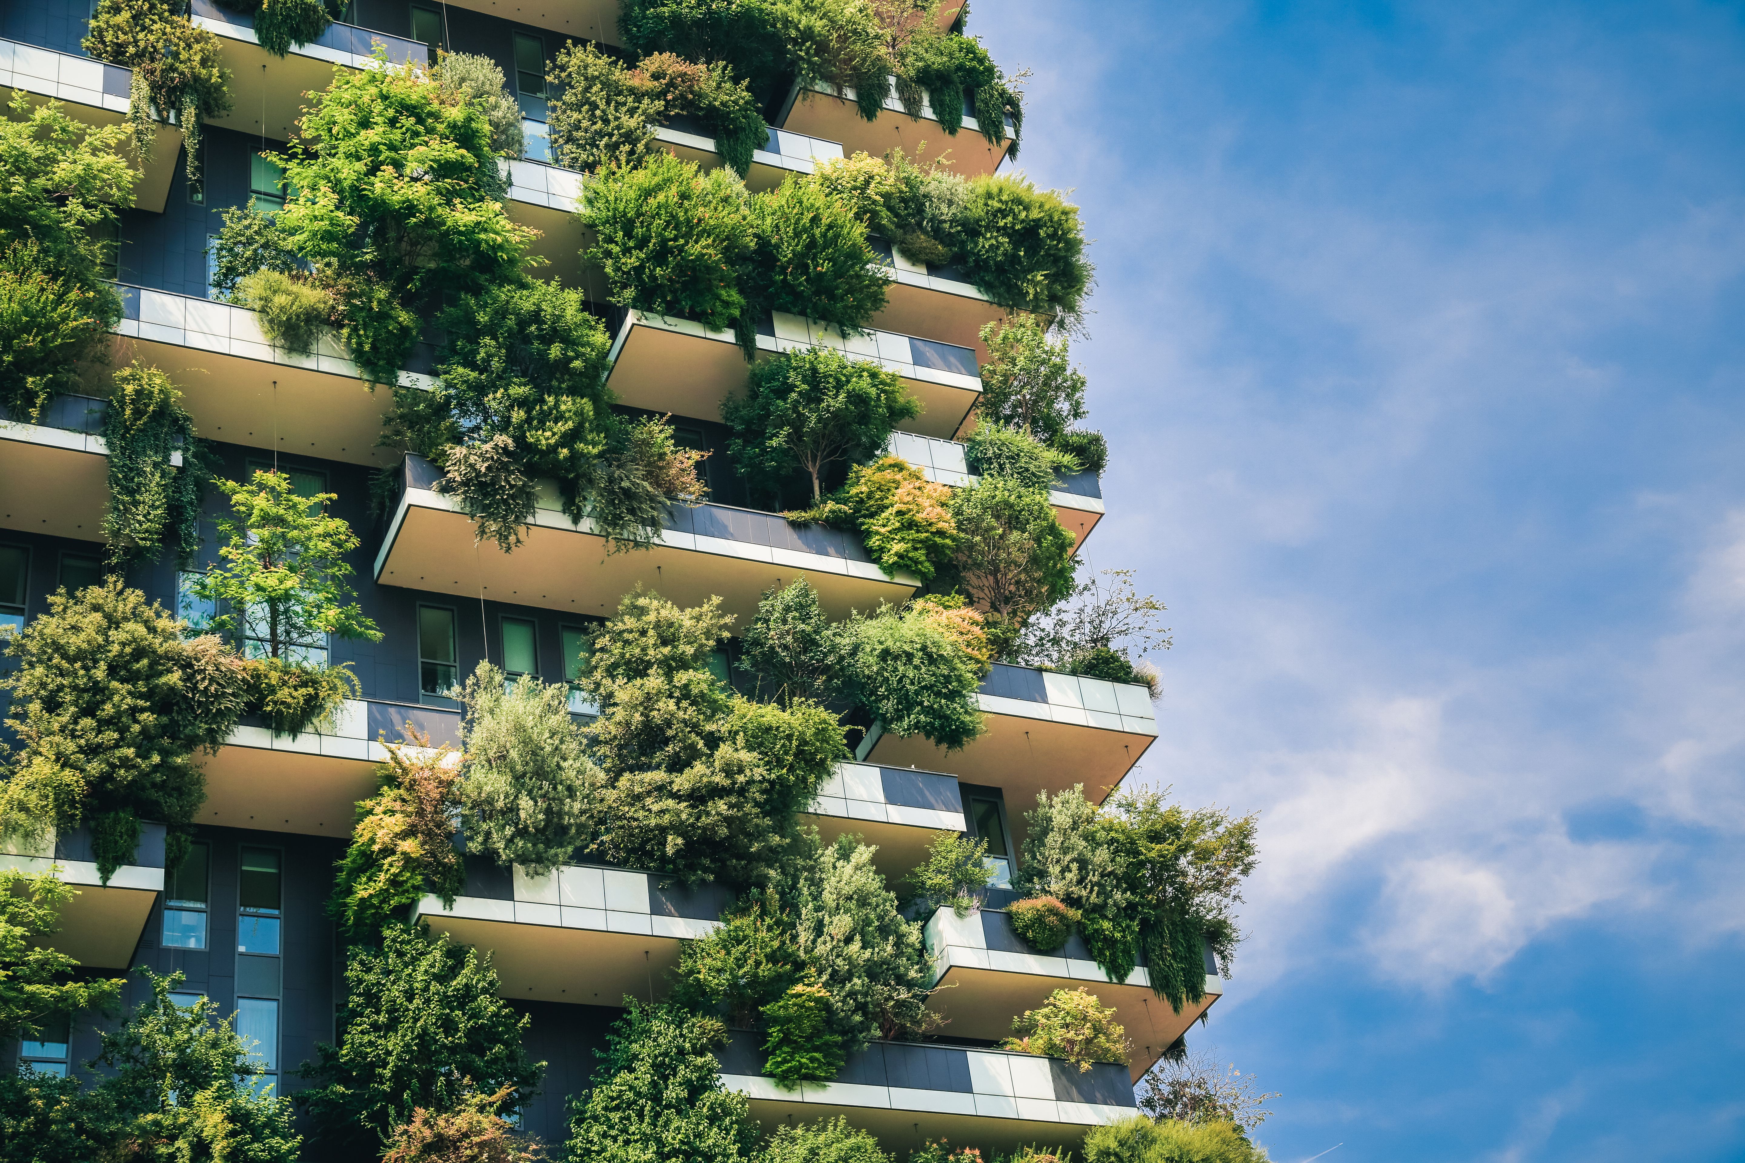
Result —
[[794, 813], [846, 758], [836, 717], [731, 696], [708, 671], [719, 600], [681, 610], [637, 589], [593, 640], [581, 687], [604, 783], [595, 851], [686, 882], [749, 886], [787, 844]]

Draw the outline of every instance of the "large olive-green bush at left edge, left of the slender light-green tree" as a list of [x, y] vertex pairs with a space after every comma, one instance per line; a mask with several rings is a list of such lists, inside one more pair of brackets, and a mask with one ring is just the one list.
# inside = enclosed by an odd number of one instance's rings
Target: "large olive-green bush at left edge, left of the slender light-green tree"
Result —
[[105, 882], [133, 856], [140, 820], [171, 825], [168, 860], [206, 800], [194, 753], [216, 748], [236, 724], [234, 699], [190, 696], [201, 652], [181, 622], [119, 579], [49, 598], [12, 638], [19, 659], [0, 678], [12, 696], [16, 745], [0, 785], [0, 833], [42, 844], [89, 820]]

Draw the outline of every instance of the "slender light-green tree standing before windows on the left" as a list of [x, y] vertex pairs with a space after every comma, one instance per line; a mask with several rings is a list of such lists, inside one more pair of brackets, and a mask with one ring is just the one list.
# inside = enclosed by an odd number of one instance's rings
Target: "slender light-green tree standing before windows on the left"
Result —
[[352, 602], [351, 563], [358, 535], [344, 518], [323, 507], [337, 493], [300, 497], [291, 478], [257, 469], [251, 481], [218, 481], [232, 516], [218, 518], [215, 565], [194, 582], [194, 593], [218, 605], [213, 629], [236, 635], [246, 652], [290, 661], [323, 635], [380, 642]]

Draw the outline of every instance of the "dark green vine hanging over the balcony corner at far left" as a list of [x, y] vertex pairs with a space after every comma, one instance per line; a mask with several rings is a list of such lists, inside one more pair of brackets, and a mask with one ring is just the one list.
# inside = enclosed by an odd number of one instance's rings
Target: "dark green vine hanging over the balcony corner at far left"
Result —
[[[110, 486], [103, 541], [110, 568], [152, 561], [166, 542], [187, 567], [201, 547], [201, 497], [208, 473], [194, 439], [194, 418], [168, 375], [138, 361], [115, 373], [103, 443]], [[178, 452], [180, 471], [171, 466]]]

